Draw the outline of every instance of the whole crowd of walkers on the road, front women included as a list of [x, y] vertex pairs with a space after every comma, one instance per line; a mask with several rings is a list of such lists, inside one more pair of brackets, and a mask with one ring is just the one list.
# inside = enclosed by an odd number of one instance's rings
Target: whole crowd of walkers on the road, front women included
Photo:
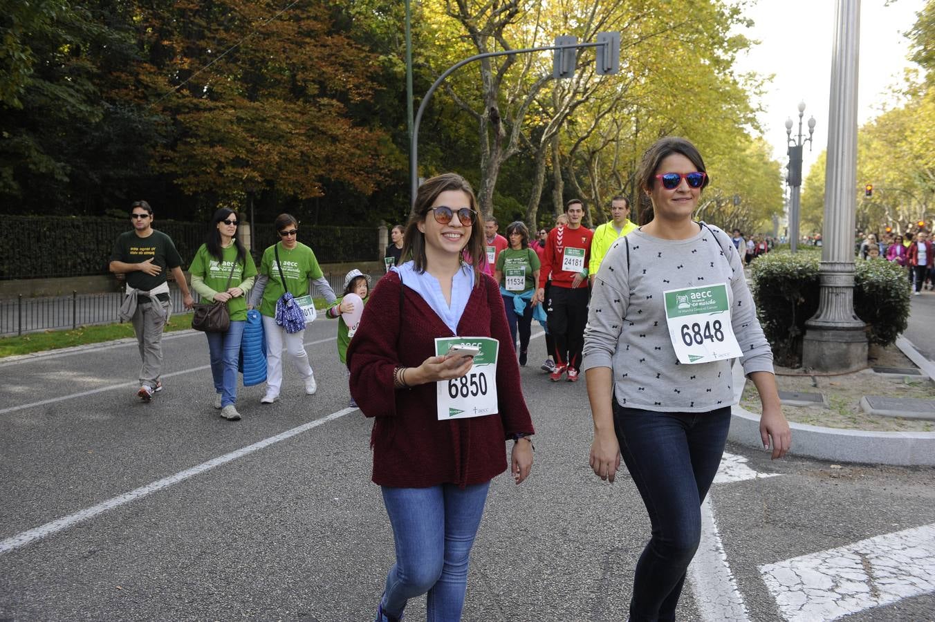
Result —
[[[237, 214], [219, 209], [211, 219], [191, 275], [202, 304], [226, 311], [223, 322], [198, 327], [222, 417], [240, 418], [238, 368], [244, 384], [248, 369], [265, 372], [250, 373], [252, 383], [266, 382], [262, 403], [280, 399], [283, 348], [305, 392], [315, 393], [303, 346], [317, 314], [312, 290], [324, 295], [326, 317], [338, 319], [338, 355], [351, 405], [373, 418], [372, 481], [394, 535], [396, 558], [374, 595], [377, 622], [401, 620], [423, 594], [427, 620], [461, 619], [490, 482], [509, 469], [521, 484], [533, 468], [520, 367], [534, 319], [547, 333], [549, 378], [586, 378], [591, 469], [613, 482], [623, 460], [652, 522], [631, 620], [674, 619], [700, 539], [700, 505], [726, 445], [732, 364], [760, 395], [764, 447], [773, 458], [789, 449], [770, 346], [743, 276], [747, 242], [692, 219], [711, 181], [700, 153], [683, 138], [660, 139], [643, 155], [638, 181], [653, 205], [641, 227], [629, 220], [626, 197], [614, 196], [611, 220], [595, 231], [571, 200], [553, 228], [530, 233], [511, 222], [504, 237], [496, 219], [482, 221], [467, 180], [431, 177], [409, 221], [391, 230], [386, 274], [372, 284], [352, 270], [340, 297], [298, 242], [292, 216], [276, 219], [281, 239], [259, 268], [237, 238]], [[124, 313], [143, 360], [137, 395], [148, 402], [161, 389], [166, 270], [178, 272], [186, 306], [194, 301], [179, 253], [151, 227], [151, 207], [137, 202], [131, 213], [134, 230], [115, 245], [111, 270], [126, 275]], [[924, 252], [930, 265], [931, 247]], [[266, 347], [248, 347], [256, 342], [245, 335], [259, 333]]]

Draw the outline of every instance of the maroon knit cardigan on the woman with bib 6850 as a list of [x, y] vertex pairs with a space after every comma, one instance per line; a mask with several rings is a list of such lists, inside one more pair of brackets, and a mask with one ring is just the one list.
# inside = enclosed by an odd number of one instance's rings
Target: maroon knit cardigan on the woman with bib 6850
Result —
[[506, 471], [505, 439], [516, 432], [533, 433], [500, 290], [490, 276], [481, 279], [471, 291], [458, 334], [500, 342], [499, 413], [486, 417], [439, 421], [434, 382], [394, 389], [396, 365], [418, 367], [435, 356], [436, 337], [454, 335], [422, 296], [401, 284], [396, 272], [384, 275], [370, 294], [347, 360], [351, 395], [364, 415], [375, 419], [370, 434], [375, 484], [480, 484]]

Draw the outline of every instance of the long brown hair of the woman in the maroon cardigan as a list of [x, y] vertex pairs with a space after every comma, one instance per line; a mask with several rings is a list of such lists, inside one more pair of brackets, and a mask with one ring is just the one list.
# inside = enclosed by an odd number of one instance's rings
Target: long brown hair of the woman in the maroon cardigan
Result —
[[[428, 216], [428, 211], [439, 194], [444, 191], [462, 191], [468, 195], [470, 208], [474, 210], [474, 222], [471, 226], [470, 237], [465, 249], [468, 251], [470, 262], [474, 265], [474, 284], [481, 280], [481, 266], [485, 259], [483, 244], [483, 227], [477, 210], [477, 198], [471, 189], [468, 180], [456, 173], [443, 173], [436, 177], [426, 179], [415, 195], [415, 205], [412, 207], [406, 232], [403, 237], [403, 257], [411, 257], [416, 272], [425, 272], [425, 234], [419, 231], [419, 223]], [[453, 218], [457, 218], [454, 216]]]

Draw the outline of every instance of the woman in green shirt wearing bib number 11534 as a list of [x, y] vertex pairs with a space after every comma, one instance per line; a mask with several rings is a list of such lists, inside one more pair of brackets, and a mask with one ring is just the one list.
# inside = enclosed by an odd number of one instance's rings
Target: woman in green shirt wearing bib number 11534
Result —
[[525, 366], [526, 349], [532, 332], [532, 295], [539, 282], [539, 255], [529, 247], [529, 230], [517, 220], [507, 227], [510, 247], [496, 256], [494, 278], [500, 284], [500, 294], [507, 310], [507, 323], [516, 347], [516, 326], [520, 330], [520, 365]]

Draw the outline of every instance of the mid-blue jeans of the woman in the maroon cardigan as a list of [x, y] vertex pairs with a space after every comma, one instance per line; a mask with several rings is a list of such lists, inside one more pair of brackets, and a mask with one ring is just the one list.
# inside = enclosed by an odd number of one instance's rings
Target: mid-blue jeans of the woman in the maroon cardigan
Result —
[[396, 541], [396, 563], [386, 577], [383, 611], [398, 617], [406, 602], [428, 593], [426, 622], [461, 619], [468, 561], [481, 525], [490, 482], [464, 489], [382, 487]]

